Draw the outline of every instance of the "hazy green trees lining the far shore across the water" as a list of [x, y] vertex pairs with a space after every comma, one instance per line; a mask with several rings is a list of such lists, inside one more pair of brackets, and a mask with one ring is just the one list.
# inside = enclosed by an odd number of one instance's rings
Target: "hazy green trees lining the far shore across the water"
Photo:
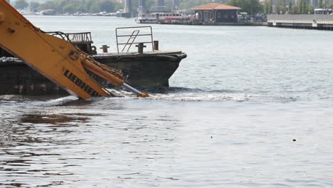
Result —
[[[157, 6], [156, 0], [145, 0], [145, 6]], [[203, 4], [211, 3], [212, 0], [182, 0], [180, 1], [180, 9], [188, 10]], [[333, 4], [324, 4], [325, 0], [319, 0], [318, 8], [333, 8]], [[277, 4], [277, 5], [276, 5]], [[132, 11], [136, 11], [137, 1], [132, 1]], [[165, 1], [166, 6], [171, 6], [171, 0]], [[300, 0], [300, 4], [295, 5], [292, 0], [279, 0], [273, 6], [273, 0], [264, 0], [260, 3], [258, 0], [229, 0], [228, 5], [238, 6], [241, 11], [247, 12], [249, 15], [255, 14], [313, 14], [314, 7], [307, 4], [307, 0]], [[17, 0], [14, 5], [16, 9], [26, 9], [29, 4], [27, 0]], [[38, 3], [31, 1], [31, 11], [42, 11], [45, 9], [54, 9], [58, 14], [73, 14], [75, 12], [97, 13], [101, 11], [115, 12], [123, 9], [124, 5], [115, 0], [53, 0], [46, 3]]]

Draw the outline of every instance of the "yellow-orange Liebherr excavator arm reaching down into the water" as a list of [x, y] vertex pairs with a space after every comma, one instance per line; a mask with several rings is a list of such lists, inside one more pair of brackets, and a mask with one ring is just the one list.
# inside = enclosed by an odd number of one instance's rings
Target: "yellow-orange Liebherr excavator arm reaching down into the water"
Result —
[[33, 26], [6, 0], [0, 0], [0, 47], [21, 58], [68, 93], [85, 100], [112, 95], [90, 78], [85, 69], [115, 86], [125, 86], [139, 97], [148, 96], [125, 83], [121, 71], [98, 63], [75, 48], [70, 41], [49, 35]]

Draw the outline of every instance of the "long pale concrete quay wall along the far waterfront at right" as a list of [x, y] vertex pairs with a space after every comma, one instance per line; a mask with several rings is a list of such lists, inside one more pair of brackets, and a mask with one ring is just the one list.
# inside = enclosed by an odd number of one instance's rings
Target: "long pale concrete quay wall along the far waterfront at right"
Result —
[[270, 14], [268, 26], [333, 30], [333, 16], [322, 14]]

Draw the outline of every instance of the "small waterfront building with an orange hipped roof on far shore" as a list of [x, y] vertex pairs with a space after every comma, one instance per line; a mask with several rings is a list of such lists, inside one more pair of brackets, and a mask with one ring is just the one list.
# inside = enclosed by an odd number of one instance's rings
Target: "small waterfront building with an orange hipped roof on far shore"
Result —
[[213, 22], [237, 22], [239, 7], [226, 4], [205, 4], [192, 8], [195, 19], [198, 21]]

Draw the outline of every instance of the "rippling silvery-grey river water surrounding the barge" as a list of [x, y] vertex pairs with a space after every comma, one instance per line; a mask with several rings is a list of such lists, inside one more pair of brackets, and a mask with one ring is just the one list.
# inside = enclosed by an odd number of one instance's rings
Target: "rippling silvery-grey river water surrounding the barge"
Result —
[[[28, 19], [112, 51], [142, 26]], [[333, 187], [332, 31], [152, 26], [188, 58], [150, 98], [0, 96], [0, 187]]]

